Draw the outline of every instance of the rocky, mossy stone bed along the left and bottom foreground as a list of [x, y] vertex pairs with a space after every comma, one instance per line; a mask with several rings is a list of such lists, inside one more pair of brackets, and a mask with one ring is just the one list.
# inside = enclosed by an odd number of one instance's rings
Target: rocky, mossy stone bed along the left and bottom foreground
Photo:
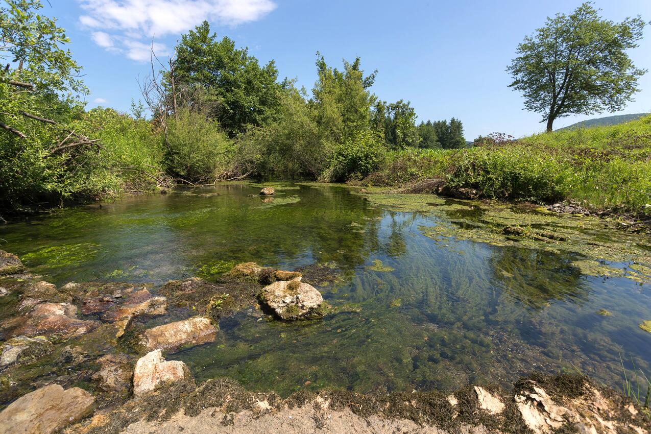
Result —
[[[0, 251], [0, 433], [647, 433], [648, 409], [580, 375], [533, 375], [511, 390], [357, 394], [249, 392], [226, 378], [197, 384], [165, 355], [211, 342], [219, 320], [256, 306], [270, 321], [328, 313], [303, 281], [319, 267], [238, 264], [219, 282], [57, 288]], [[16, 274], [19, 273], [19, 274]], [[325, 271], [327, 273], [327, 271]], [[197, 306], [199, 306], [197, 308]], [[145, 328], [143, 318], [161, 318]], [[164, 321], [170, 319], [169, 321]], [[171, 319], [175, 319], [172, 321]]]

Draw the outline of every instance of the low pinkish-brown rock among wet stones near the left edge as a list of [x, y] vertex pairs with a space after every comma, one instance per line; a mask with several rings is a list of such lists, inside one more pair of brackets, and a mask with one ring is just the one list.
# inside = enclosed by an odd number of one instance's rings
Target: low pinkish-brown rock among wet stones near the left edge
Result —
[[3, 322], [3, 328], [13, 328], [12, 336], [57, 334], [61, 338], [81, 336], [96, 329], [96, 321], [77, 318], [77, 307], [68, 303], [40, 303], [24, 316]]

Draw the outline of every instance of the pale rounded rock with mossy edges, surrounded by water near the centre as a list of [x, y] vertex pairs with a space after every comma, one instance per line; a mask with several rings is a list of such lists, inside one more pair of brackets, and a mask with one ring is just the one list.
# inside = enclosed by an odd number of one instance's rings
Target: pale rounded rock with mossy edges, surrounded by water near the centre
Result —
[[273, 282], [262, 288], [258, 298], [282, 319], [322, 316], [318, 311], [324, 301], [321, 293], [299, 278]]

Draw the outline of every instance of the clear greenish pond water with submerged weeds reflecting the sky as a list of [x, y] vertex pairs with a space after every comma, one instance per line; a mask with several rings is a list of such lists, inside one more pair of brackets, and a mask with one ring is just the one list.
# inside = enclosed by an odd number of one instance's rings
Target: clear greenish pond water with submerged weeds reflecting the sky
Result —
[[579, 370], [621, 387], [620, 354], [648, 374], [651, 334], [638, 325], [651, 319], [651, 282], [583, 274], [576, 252], [424, 235], [460, 214], [472, 224], [481, 206], [396, 211], [346, 187], [287, 186], [270, 203], [249, 185], [129, 198], [3, 226], [0, 238], [55, 284], [210, 279], [243, 261], [339, 269], [318, 287], [335, 308], [322, 321], [258, 321], [245, 310], [221, 321], [214, 343], [167, 356], [199, 381], [227, 375], [282, 394], [409, 391]]

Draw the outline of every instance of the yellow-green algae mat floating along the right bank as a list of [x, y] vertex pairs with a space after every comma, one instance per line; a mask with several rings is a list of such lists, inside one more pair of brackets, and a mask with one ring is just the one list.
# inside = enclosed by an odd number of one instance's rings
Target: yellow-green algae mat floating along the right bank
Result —
[[[377, 191], [377, 189], [376, 189]], [[539, 208], [446, 200], [434, 195], [370, 193], [367, 200], [392, 211], [432, 215], [421, 225], [422, 234], [437, 243], [450, 240], [514, 246], [575, 254], [572, 264], [585, 275], [627, 277], [651, 282], [651, 239], [628, 234], [594, 217], [559, 215]], [[613, 226], [614, 227], [614, 226]], [[629, 264], [628, 267], [613, 266]]]

